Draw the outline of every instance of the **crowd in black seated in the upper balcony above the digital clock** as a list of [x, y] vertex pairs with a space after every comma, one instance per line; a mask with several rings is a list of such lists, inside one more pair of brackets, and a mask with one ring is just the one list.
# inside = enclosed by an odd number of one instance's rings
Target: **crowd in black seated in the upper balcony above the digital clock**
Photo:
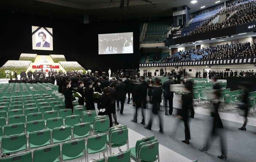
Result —
[[[231, 12], [237, 10], [236, 13], [232, 15], [228, 20], [222, 22], [216, 22], [216, 23], [209, 23], [216, 18], [219, 14], [223, 14], [226, 12]], [[196, 29], [194, 29], [192, 32], [185, 34], [184, 36], [189, 36], [193, 34], [198, 33], [204, 33], [212, 30], [227, 28], [230, 26], [240, 25], [248, 22], [256, 21], [256, 6], [255, 1], [248, 1], [243, 4], [239, 5], [232, 5], [231, 7], [222, 9], [219, 13], [217, 13], [215, 16], [210, 18], [208, 21], [202, 23], [200, 26], [198, 26]]]

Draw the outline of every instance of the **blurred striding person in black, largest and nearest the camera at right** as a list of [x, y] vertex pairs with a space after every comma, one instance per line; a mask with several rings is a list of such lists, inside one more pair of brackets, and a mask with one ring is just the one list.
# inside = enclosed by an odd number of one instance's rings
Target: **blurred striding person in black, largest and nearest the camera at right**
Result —
[[206, 151], [210, 148], [212, 141], [214, 141], [218, 136], [220, 136], [220, 143], [221, 143], [221, 155], [218, 156], [220, 159], [227, 159], [227, 145], [225, 144], [225, 139], [224, 139], [224, 133], [221, 131], [220, 128], [223, 128], [223, 124], [221, 122], [220, 116], [218, 115], [218, 107], [220, 106], [220, 85], [217, 83], [217, 77], [212, 76], [212, 82], [214, 83], [213, 86], [213, 93], [210, 96], [210, 103], [213, 105], [213, 110], [212, 110], [212, 117], [213, 119], [213, 128], [211, 134], [209, 134], [204, 147], [202, 149], [199, 149], [201, 152]]

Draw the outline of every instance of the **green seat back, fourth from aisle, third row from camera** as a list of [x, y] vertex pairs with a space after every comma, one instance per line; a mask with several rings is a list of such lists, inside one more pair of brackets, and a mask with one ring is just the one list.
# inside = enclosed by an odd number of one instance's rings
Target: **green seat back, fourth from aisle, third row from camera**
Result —
[[51, 131], [49, 129], [29, 133], [28, 147], [40, 148], [51, 143]]

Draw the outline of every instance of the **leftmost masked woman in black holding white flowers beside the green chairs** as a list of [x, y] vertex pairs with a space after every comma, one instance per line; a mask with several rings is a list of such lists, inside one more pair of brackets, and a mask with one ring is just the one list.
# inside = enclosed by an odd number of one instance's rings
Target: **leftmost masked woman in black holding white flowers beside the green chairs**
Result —
[[72, 93], [70, 92], [69, 88], [71, 87], [70, 82], [65, 81], [63, 84], [63, 95], [65, 97], [65, 106], [66, 109], [72, 109], [73, 111], [73, 104], [72, 104], [72, 100], [78, 100], [78, 97], [73, 97]]

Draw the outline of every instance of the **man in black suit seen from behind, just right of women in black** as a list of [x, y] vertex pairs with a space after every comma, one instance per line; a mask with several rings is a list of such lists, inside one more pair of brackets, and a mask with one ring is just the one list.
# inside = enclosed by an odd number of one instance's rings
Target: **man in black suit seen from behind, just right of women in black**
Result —
[[115, 85], [115, 90], [117, 90], [117, 108], [119, 109], [119, 101], [121, 101], [120, 114], [123, 114], [127, 86], [122, 82], [122, 78], [118, 79], [118, 84]]

